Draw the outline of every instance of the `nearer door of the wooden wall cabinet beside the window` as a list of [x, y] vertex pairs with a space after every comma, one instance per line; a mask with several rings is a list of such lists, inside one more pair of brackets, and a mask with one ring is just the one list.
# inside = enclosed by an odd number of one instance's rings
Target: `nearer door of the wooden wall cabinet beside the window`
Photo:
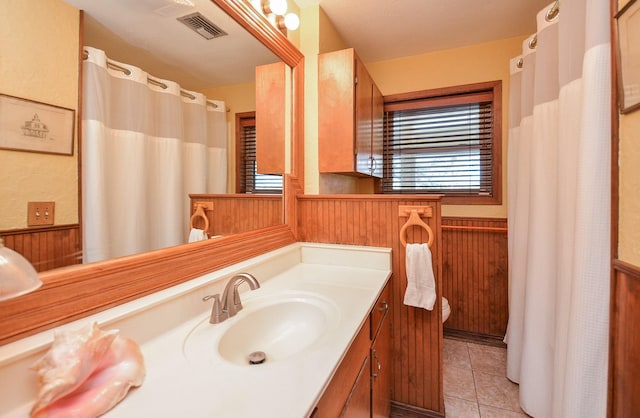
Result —
[[373, 81], [364, 64], [359, 59], [355, 61], [356, 67], [356, 171], [361, 174], [371, 175], [371, 105], [373, 98]]

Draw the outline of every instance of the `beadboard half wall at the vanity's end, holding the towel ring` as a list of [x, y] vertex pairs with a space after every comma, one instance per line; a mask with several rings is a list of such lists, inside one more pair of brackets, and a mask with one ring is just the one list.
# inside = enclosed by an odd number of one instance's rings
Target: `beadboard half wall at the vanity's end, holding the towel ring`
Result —
[[[392, 248], [393, 397], [396, 402], [444, 413], [442, 388], [442, 306], [433, 311], [403, 304], [406, 289], [405, 250], [399, 231], [407, 218], [400, 205], [425, 205], [434, 216], [424, 219], [435, 233], [432, 246], [436, 292], [442, 294], [440, 200], [434, 197], [320, 195], [298, 198], [298, 240]], [[418, 227], [407, 230], [407, 242], [427, 242]]]

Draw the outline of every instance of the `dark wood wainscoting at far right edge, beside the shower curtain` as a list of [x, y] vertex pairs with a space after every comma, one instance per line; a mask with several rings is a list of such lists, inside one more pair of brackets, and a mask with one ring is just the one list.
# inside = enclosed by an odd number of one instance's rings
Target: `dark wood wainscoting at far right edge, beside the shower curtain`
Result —
[[610, 418], [640, 416], [640, 268], [613, 261], [609, 337]]

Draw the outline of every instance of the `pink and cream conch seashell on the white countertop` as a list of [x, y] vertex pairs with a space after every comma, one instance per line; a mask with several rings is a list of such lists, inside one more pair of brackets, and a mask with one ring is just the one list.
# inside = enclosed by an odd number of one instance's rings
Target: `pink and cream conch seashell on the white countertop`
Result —
[[145, 377], [142, 352], [118, 330], [96, 323], [54, 336], [32, 369], [40, 391], [31, 417], [97, 417], [118, 404]]

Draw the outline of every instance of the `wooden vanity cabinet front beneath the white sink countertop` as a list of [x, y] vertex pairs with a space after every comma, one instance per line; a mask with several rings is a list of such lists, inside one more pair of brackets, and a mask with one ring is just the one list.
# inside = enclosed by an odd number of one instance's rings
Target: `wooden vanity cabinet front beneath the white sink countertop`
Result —
[[389, 417], [390, 297], [391, 288], [387, 284], [318, 402], [313, 418]]

